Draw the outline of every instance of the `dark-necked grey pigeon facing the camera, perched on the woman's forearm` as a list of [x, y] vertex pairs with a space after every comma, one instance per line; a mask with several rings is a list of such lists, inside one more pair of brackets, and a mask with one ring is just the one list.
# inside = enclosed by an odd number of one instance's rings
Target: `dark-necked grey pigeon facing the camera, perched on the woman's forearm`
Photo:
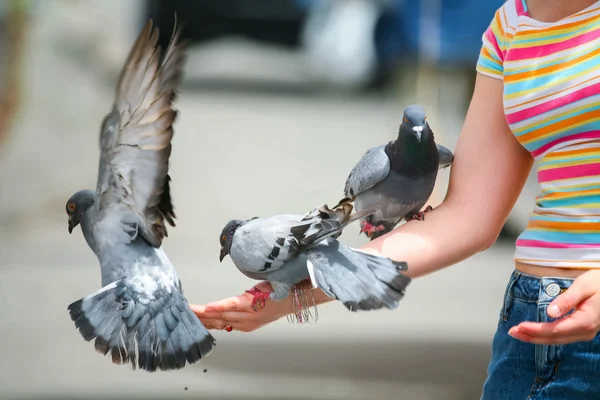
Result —
[[370, 240], [394, 229], [403, 219], [423, 220], [432, 210], [420, 211], [431, 196], [438, 169], [452, 164], [454, 155], [435, 143], [418, 105], [406, 107], [396, 140], [373, 147], [350, 172], [344, 198], [334, 207], [354, 202], [357, 211], [377, 207], [360, 221], [361, 233]]

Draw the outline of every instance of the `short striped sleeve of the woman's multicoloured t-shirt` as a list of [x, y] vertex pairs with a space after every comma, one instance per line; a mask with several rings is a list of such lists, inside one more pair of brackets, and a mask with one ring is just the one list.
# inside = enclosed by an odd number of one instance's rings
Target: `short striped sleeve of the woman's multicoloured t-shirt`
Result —
[[476, 70], [496, 79], [504, 77], [505, 30], [502, 26], [503, 8], [496, 11], [494, 19], [482, 36], [482, 46]]

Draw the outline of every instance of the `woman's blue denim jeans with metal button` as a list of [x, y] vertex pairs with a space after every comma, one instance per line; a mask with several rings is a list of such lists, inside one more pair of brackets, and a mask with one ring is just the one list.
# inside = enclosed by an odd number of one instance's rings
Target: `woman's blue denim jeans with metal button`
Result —
[[567, 345], [534, 345], [508, 335], [521, 321], [553, 321], [546, 309], [572, 283], [573, 279], [512, 273], [482, 400], [600, 399], [600, 335]]

